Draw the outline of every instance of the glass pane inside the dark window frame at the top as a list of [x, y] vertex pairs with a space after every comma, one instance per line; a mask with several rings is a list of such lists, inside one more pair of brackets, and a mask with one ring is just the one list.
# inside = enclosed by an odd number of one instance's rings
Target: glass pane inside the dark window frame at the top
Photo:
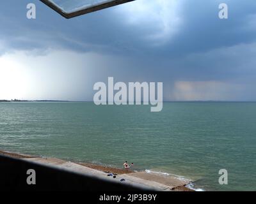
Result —
[[49, 0], [65, 13], [72, 13], [86, 8], [91, 8], [104, 3], [109, 3], [113, 0]]

